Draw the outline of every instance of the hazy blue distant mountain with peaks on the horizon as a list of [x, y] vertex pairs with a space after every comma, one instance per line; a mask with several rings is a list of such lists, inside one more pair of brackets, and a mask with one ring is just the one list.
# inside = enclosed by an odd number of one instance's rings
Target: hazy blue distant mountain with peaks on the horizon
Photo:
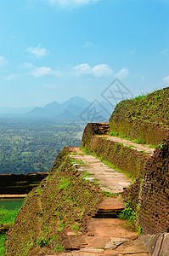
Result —
[[75, 96], [63, 103], [52, 102], [43, 108], [34, 108], [25, 114], [26, 118], [54, 119], [56, 121], [105, 122], [113, 109], [106, 102], [88, 102]]

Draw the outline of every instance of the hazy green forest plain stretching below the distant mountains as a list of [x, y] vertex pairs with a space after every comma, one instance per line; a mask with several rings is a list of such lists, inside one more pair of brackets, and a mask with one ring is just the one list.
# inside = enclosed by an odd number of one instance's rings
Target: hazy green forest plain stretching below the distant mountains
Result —
[[84, 125], [0, 119], [0, 174], [48, 172], [67, 146], [81, 146]]

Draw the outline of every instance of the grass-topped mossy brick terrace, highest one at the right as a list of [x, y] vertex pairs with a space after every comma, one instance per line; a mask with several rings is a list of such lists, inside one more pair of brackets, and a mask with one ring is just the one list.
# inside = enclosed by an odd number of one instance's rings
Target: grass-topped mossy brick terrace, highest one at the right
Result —
[[169, 87], [120, 102], [110, 117], [110, 130], [157, 146], [169, 132], [168, 99]]

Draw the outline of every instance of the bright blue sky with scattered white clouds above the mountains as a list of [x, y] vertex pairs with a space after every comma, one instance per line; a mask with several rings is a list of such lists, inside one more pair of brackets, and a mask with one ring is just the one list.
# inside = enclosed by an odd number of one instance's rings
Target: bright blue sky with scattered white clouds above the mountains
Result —
[[168, 0], [0, 0], [0, 107], [169, 84]]

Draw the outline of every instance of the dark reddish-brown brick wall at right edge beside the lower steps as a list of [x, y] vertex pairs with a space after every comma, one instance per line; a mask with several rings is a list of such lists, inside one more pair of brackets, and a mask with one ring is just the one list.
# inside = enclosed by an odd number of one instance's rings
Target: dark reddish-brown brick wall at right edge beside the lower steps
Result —
[[144, 175], [123, 193], [144, 234], [169, 232], [169, 137], [147, 161]]

